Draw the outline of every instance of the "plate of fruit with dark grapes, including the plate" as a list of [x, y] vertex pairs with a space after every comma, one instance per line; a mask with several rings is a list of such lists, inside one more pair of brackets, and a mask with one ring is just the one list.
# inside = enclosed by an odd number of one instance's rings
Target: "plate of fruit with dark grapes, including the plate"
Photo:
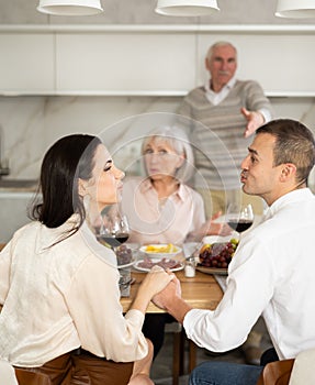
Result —
[[196, 268], [202, 273], [226, 275], [237, 245], [238, 240], [235, 238], [227, 242], [203, 244], [199, 252]]

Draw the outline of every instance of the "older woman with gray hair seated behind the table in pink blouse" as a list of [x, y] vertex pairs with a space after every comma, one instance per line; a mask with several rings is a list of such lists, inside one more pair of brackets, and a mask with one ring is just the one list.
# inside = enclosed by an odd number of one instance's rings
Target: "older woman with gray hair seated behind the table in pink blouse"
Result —
[[[181, 129], [155, 130], [143, 141], [142, 154], [146, 176], [133, 177], [123, 187], [122, 210], [130, 221], [131, 242], [182, 244], [230, 232], [227, 224], [205, 220], [202, 197], [185, 184], [195, 169]], [[167, 314], [146, 315], [143, 332], [154, 344], [154, 356], [162, 346], [165, 323], [172, 321]]]

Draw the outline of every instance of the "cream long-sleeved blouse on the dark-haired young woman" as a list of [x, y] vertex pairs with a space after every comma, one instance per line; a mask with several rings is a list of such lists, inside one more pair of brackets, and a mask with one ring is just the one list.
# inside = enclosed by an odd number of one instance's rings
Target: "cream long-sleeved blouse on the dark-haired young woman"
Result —
[[54, 244], [76, 220], [31, 222], [0, 254], [0, 356], [13, 365], [41, 366], [79, 346], [116, 362], [147, 354], [144, 315], [123, 316], [113, 252], [86, 223]]

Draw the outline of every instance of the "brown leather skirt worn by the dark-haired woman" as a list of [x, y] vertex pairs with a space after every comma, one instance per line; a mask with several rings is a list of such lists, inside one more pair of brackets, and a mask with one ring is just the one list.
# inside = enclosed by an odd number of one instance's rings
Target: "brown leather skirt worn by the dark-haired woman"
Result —
[[133, 366], [78, 349], [40, 367], [15, 366], [15, 374], [19, 385], [127, 385]]

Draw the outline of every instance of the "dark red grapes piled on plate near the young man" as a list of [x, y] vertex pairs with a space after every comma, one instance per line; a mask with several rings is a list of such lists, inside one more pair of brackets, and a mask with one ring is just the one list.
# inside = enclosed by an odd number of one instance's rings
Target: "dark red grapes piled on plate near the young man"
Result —
[[204, 267], [227, 268], [237, 245], [238, 241], [236, 239], [232, 239], [229, 242], [225, 243], [203, 245], [199, 253], [199, 265]]

